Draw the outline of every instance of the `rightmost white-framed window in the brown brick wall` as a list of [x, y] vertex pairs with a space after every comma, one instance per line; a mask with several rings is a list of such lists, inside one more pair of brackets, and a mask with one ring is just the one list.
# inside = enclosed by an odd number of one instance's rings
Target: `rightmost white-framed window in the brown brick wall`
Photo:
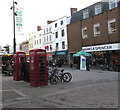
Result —
[[116, 32], [116, 19], [108, 20], [108, 33], [112, 34]]

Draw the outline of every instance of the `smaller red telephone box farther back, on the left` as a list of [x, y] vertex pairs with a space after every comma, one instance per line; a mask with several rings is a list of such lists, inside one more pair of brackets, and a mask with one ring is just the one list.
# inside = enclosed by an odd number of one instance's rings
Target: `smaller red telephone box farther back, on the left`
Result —
[[25, 52], [15, 52], [13, 55], [13, 80], [23, 80], [26, 63]]

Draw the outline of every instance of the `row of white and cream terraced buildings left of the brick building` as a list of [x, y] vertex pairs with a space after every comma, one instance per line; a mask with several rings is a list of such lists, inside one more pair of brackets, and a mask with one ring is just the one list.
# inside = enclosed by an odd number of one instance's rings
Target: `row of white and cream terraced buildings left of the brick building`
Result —
[[47, 21], [46, 26], [34, 32], [32, 36], [28, 36], [33, 49], [46, 49], [50, 58], [67, 59], [67, 25], [70, 23], [70, 18], [64, 16], [55, 21]]

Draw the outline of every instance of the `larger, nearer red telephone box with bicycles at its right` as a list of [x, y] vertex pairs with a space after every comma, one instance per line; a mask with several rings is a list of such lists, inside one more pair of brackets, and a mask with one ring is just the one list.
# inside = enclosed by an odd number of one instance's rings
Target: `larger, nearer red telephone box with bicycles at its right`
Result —
[[45, 86], [48, 84], [46, 51], [33, 49], [30, 54], [30, 85]]

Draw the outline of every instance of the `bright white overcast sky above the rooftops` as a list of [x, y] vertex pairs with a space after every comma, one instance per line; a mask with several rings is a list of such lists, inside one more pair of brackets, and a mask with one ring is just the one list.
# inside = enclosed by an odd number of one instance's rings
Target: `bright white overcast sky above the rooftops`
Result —
[[[16, 34], [16, 43], [28, 39], [37, 26], [47, 25], [47, 20], [70, 16], [70, 8], [78, 11], [100, 0], [16, 0], [16, 7], [23, 8], [23, 35]], [[13, 45], [13, 0], [0, 0], [0, 46]]]

